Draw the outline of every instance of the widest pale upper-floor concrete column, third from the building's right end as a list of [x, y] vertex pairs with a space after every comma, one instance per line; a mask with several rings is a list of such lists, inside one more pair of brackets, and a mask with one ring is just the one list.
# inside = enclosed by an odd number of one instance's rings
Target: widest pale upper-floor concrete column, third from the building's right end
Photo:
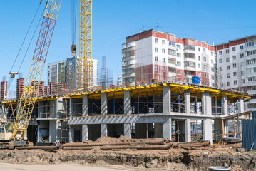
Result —
[[208, 91], [202, 93], [202, 113], [203, 115], [212, 115], [212, 97]]

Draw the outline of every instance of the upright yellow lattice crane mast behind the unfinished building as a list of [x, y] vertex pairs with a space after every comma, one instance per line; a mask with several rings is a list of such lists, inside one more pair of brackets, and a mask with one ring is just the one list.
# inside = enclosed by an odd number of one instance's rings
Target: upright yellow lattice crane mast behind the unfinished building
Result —
[[92, 63], [92, 0], [80, 0], [79, 88], [90, 88]]

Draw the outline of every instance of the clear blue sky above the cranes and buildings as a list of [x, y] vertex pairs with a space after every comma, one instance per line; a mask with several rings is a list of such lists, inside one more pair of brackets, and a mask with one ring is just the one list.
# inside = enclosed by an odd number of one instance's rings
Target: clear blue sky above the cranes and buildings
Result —
[[[9, 79], [9, 71], [40, 0], [1, 0], [0, 6], [0, 80]], [[46, 0], [27, 40], [24, 43], [13, 71], [17, 71], [28, 47], [32, 33]], [[173, 33], [180, 38], [195, 38], [210, 44], [256, 34], [256, 1], [172, 1], [172, 0], [94, 0], [93, 1], [93, 58], [107, 56], [107, 65], [113, 69], [114, 78], [121, 74], [121, 44], [126, 36], [144, 29], [155, 28]], [[77, 15], [78, 16], [78, 15]], [[77, 21], [77, 24], [79, 22]], [[77, 29], [79, 27], [77, 26]], [[36, 38], [21, 67], [23, 77], [29, 71]], [[78, 40], [78, 35], [77, 35]], [[77, 42], [78, 46], [78, 42]], [[71, 0], [63, 0], [58, 21], [48, 51], [46, 65], [71, 56]], [[16, 68], [16, 69], [15, 69]], [[46, 81], [46, 69], [42, 81]], [[13, 81], [11, 89], [15, 89]]]

